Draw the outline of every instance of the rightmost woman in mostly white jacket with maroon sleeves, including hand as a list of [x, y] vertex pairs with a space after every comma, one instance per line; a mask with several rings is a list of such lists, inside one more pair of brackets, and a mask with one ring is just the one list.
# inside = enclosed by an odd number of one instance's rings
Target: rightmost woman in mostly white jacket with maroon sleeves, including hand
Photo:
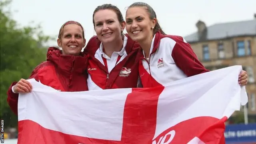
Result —
[[[131, 4], [126, 11], [126, 31], [143, 50], [139, 65], [143, 87], [165, 85], [175, 80], [209, 72], [182, 36], [167, 35], [156, 13], [144, 2]], [[248, 82], [246, 71], [238, 76], [242, 86]]]

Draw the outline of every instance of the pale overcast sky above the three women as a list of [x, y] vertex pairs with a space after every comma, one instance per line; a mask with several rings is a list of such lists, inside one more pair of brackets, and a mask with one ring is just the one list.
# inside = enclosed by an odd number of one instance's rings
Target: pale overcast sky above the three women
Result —
[[[76, 20], [85, 29], [87, 41], [94, 35], [92, 14], [101, 4], [114, 4], [125, 18], [131, 0], [13, 0], [13, 18], [21, 26], [34, 21], [41, 24], [44, 34], [57, 38], [60, 26]], [[256, 0], [141, 0], [155, 10], [165, 33], [186, 36], [196, 31], [200, 19], [207, 26], [222, 22], [252, 20], [256, 13]], [[56, 45], [56, 42], [51, 42]]]

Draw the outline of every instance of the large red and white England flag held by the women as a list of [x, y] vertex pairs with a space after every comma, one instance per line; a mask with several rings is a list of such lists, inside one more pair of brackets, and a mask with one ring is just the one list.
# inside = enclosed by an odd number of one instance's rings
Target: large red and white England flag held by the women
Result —
[[18, 101], [18, 144], [218, 144], [247, 103], [241, 66], [163, 87], [59, 92], [35, 80]]

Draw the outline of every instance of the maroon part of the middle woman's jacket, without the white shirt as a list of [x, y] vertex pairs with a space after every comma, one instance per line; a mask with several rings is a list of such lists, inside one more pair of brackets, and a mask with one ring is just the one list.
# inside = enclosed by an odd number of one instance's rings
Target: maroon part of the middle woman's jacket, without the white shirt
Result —
[[134, 42], [127, 34], [125, 34], [125, 36], [127, 37], [125, 47], [127, 56], [119, 62], [110, 73], [108, 73], [105, 66], [98, 59], [94, 58], [101, 43], [96, 36], [89, 40], [84, 50], [85, 53], [89, 53], [90, 55], [88, 73], [93, 83], [102, 89], [137, 87], [141, 48], [140, 45]]

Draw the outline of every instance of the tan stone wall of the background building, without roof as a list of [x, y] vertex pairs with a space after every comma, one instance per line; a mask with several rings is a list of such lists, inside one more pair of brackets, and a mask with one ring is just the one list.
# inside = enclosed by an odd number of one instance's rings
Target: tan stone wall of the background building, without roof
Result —
[[[238, 54], [238, 42], [244, 42], [244, 55]], [[202, 64], [209, 70], [242, 65], [249, 76], [248, 115], [256, 115], [256, 36], [240, 36], [221, 40], [190, 43]], [[219, 45], [223, 49], [219, 50]], [[208, 48], [208, 59], [204, 59], [204, 46]]]

